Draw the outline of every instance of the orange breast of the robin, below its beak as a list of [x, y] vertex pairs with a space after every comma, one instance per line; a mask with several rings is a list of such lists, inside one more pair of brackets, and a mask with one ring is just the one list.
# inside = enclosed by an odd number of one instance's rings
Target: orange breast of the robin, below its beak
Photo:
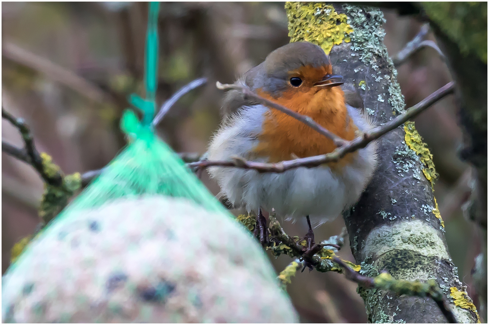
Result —
[[[315, 122], [345, 140], [353, 140], [357, 127], [349, 117], [343, 91], [339, 87], [316, 90], [314, 87], [284, 92], [278, 99], [258, 90], [260, 96], [277, 102], [297, 113], [311, 117]], [[270, 109], [258, 137], [254, 153], [268, 157], [270, 163], [310, 157], [333, 152], [333, 141], [308, 125], [276, 110]], [[345, 156], [339, 165], [348, 163], [352, 155]], [[331, 167], [338, 163], [329, 164]]]

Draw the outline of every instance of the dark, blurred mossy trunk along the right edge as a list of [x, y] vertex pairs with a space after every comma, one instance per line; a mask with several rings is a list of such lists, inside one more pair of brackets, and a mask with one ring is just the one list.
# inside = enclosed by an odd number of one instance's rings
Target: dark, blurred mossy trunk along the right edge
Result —
[[476, 263], [474, 284], [481, 316], [487, 321], [487, 2], [423, 2], [420, 6], [457, 84], [465, 135], [461, 157], [477, 172], [468, 216], [479, 225], [482, 239], [482, 262]]

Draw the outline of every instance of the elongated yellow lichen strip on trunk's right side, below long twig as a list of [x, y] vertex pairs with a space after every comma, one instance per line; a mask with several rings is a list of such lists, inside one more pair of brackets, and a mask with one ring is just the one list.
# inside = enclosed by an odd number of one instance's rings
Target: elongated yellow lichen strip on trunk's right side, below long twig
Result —
[[414, 122], [404, 123], [404, 131], [406, 132], [404, 140], [409, 148], [414, 150], [416, 154], [420, 157], [421, 163], [423, 165], [422, 171], [426, 179], [431, 184], [431, 189], [435, 180], [438, 178], [438, 174], [435, 170], [435, 164], [433, 163], [433, 155], [430, 153], [426, 143], [423, 142], [422, 137], [414, 127]]

